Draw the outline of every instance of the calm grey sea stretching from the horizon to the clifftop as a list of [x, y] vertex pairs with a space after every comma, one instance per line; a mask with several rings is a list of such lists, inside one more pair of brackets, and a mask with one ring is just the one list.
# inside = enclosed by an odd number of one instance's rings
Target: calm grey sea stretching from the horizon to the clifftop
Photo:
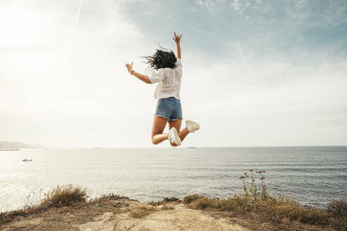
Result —
[[[32, 161], [23, 161], [23, 159]], [[243, 193], [241, 175], [265, 170], [270, 194], [324, 207], [347, 197], [347, 146], [0, 151], [0, 212], [37, 204], [58, 185], [89, 199], [120, 194], [142, 202], [188, 194]], [[260, 180], [255, 173], [255, 182]]]

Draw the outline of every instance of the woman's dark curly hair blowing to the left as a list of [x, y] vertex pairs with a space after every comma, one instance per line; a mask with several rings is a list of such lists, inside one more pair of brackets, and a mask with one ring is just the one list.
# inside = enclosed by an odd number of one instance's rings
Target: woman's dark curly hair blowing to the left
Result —
[[153, 56], [142, 56], [146, 61], [144, 63], [150, 64], [152, 68], [158, 70], [159, 68], [176, 68], [177, 58], [173, 51], [163, 51], [157, 49]]

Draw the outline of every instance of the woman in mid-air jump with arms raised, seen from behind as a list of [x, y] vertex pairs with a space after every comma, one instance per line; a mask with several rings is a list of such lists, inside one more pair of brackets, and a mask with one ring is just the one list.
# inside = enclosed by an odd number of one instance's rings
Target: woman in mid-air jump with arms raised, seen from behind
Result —
[[[169, 139], [171, 146], [179, 146], [190, 132], [200, 129], [200, 125], [192, 120], [185, 120], [185, 128], [181, 130], [182, 108], [180, 99], [182, 63], [181, 63], [181, 36], [173, 33], [173, 41], [177, 46], [177, 58], [173, 51], [157, 49], [153, 56], [145, 56], [145, 75], [133, 70], [133, 63], [126, 64], [131, 75], [148, 84], [158, 83], [154, 91], [154, 99], [158, 99], [152, 127], [152, 143], [159, 144]], [[166, 123], [169, 123], [169, 133], [163, 133]], [[180, 132], [178, 132], [180, 131]]]

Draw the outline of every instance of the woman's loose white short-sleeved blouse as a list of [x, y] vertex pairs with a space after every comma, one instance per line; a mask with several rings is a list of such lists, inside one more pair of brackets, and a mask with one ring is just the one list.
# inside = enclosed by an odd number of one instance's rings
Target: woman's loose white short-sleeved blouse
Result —
[[152, 67], [145, 69], [145, 75], [150, 78], [152, 83], [158, 82], [154, 91], [154, 99], [163, 99], [175, 97], [180, 99], [182, 63], [181, 58], [177, 58], [176, 68], [159, 68], [155, 70]]

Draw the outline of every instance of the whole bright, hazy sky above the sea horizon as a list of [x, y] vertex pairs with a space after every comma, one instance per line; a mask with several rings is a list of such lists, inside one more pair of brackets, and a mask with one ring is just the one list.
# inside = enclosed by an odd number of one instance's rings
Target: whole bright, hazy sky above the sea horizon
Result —
[[344, 0], [0, 0], [0, 140], [154, 147], [155, 85], [125, 64], [173, 32], [182, 146], [347, 145]]

